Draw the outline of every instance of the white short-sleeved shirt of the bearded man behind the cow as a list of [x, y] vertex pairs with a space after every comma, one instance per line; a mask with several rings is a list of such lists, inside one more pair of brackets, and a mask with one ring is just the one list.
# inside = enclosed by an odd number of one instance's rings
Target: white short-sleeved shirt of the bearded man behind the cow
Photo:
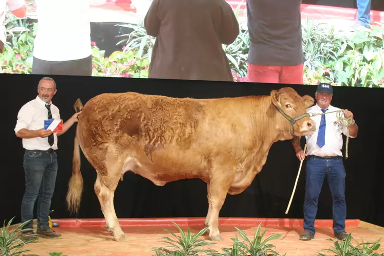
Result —
[[[48, 119], [48, 109], [45, 107], [46, 103], [39, 98], [31, 100], [24, 104], [19, 114], [17, 114], [17, 122], [15, 126], [15, 133], [19, 132], [21, 129], [25, 128], [27, 130], [36, 131], [44, 128], [44, 120]], [[51, 101], [51, 113], [52, 118], [60, 119], [59, 108], [52, 104]], [[48, 143], [48, 137], [41, 138], [29, 138], [23, 139], [23, 148], [27, 150], [48, 150], [52, 148], [53, 150], [58, 149], [58, 137], [57, 133], [53, 133], [54, 143], [52, 147]]]

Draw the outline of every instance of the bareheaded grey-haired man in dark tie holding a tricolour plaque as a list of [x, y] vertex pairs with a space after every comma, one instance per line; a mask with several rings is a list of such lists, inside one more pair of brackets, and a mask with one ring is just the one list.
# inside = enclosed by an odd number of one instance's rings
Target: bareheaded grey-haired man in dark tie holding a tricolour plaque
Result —
[[[57, 137], [68, 131], [81, 114], [78, 112], [63, 123], [63, 130], [60, 132], [52, 133], [51, 130], [45, 130], [44, 120], [60, 119], [59, 108], [51, 101], [56, 92], [56, 83], [53, 79], [41, 79], [38, 85], [39, 95], [21, 107], [14, 129], [16, 136], [23, 139], [25, 149], [23, 162], [25, 192], [21, 206], [21, 221], [33, 219], [33, 208], [37, 200], [38, 229], [36, 233], [47, 237], [61, 236], [49, 228], [48, 223], [58, 169], [55, 152], [58, 149]], [[32, 228], [32, 222], [23, 229], [27, 228]], [[26, 231], [24, 234], [33, 234], [33, 231]]]

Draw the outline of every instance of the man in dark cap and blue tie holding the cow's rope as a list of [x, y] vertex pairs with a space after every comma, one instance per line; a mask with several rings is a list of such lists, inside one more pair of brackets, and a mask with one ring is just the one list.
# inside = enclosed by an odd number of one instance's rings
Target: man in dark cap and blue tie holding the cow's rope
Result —
[[[307, 152], [301, 149], [300, 139], [292, 139], [292, 145], [299, 160], [306, 163], [306, 181], [304, 198], [304, 232], [300, 240], [312, 240], [315, 237], [315, 218], [317, 202], [325, 176], [330, 185], [333, 197], [333, 230], [335, 237], [344, 240], [346, 204], [345, 204], [345, 169], [341, 149], [343, 147], [342, 134], [349, 134], [350, 138], [357, 137], [358, 126], [353, 120], [353, 113], [345, 109], [343, 116], [352, 118], [352, 123], [346, 127], [337, 122], [340, 108], [331, 105], [333, 96], [332, 85], [320, 83], [315, 94], [317, 104], [306, 109], [307, 113], [325, 113], [316, 115], [312, 119], [316, 122], [316, 132], [312, 136], [305, 136]], [[348, 132], [348, 133], [347, 133]]]

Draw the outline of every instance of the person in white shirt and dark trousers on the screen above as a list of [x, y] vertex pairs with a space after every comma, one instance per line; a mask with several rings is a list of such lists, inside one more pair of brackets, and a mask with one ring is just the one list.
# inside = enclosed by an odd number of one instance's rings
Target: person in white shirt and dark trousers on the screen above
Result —
[[106, 0], [35, 0], [32, 74], [92, 76], [90, 6]]

